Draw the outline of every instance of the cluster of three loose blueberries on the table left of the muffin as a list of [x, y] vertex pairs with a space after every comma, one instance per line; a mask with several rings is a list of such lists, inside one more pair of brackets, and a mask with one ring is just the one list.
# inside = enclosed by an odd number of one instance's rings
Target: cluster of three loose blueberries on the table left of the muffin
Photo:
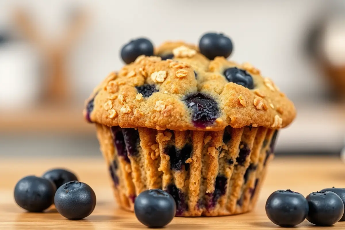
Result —
[[96, 206], [96, 195], [86, 183], [66, 169], [52, 169], [42, 177], [27, 176], [14, 187], [14, 200], [29, 212], [42, 212], [55, 204], [68, 219], [83, 219]]

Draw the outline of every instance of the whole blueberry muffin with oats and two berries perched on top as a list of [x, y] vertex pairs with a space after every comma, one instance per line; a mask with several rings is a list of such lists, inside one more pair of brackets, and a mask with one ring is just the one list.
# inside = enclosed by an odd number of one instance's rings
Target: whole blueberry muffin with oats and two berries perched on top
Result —
[[228, 61], [233, 45], [207, 33], [199, 47], [137, 39], [128, 63], [93, 91], [95, 123], [115, 198], [133, 211], [147, 189], [169, 192], [176, 216], [225, 216], [255, 206], [278, 130], [295, 107], [249, 63]]

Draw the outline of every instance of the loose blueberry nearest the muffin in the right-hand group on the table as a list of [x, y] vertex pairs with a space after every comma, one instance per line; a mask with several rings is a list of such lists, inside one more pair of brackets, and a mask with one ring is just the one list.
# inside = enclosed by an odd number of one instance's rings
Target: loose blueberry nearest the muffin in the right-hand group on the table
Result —
[[308, 209], [304, 196], [291, 190], [275, 191], [266, 201], [268, 219], [281, 227], [293, 227], [302, 223]]

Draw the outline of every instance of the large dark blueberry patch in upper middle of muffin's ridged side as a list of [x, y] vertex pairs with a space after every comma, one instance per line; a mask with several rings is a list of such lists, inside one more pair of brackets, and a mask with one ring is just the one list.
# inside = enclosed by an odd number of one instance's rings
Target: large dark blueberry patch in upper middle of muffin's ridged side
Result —
[[170, 168], [172, 170], [182, 170], [182, 166], [185, 166], [185, 170], [188, 171], [189, 163], [186, 160], [190, 157], [192, 152], [191, 144], [186, 144], [182, 149], [176, 149], [175, 146], [168, 146], [165, 148], [165, 153], [170, 157]]

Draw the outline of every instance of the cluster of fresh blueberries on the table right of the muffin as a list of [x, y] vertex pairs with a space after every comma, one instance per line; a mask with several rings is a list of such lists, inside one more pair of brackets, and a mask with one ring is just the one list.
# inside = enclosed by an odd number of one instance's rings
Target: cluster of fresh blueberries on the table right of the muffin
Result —
[[305, 219], [317, 226], [344, 221], [345, 189], [329, 188], [306, 198], [291, 190], [273, 192], [266, 201], [267, 217], [281, 227], [293, 227]]

